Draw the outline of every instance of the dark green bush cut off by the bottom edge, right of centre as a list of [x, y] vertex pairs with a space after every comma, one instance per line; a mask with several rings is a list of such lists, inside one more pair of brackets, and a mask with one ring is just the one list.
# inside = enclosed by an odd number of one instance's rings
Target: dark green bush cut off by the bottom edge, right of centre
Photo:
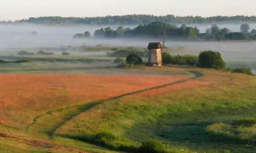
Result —
[[159, 140], [146, 140], [142, 142], [140, 152], [160, 153], [165, 152], [166, 145]]

